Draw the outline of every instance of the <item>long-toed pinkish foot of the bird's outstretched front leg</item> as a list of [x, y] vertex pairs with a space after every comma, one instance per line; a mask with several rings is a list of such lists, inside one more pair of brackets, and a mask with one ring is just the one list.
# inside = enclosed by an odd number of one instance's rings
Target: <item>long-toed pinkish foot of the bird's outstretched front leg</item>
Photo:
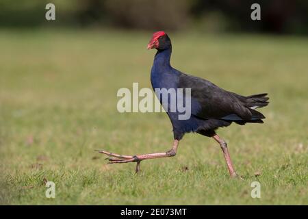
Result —
[[140, 162], [141, 162], [141, 160], [136, 155], [135, 156], [119, 155], [119, 154], [111, 153], [111, 152], [108, 152], [108, 151], [98, 151], [98, 152], [103, 153], [103, 154], [108, 156], [106, 158], [107, 160], [109, 160], [108, 164], [123, 164], [123, 163], [129, 163], [129, 162], [137, 162], [136, 173], [140, 172]]

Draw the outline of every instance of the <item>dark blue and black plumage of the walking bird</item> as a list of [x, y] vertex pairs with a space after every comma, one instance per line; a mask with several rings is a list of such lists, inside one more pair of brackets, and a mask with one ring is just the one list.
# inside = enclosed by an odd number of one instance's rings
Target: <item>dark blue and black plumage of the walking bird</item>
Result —
[[[227, 127], [232, 122], [263, 123], [265, 118], [251, 107], [268, 104], [266, 94], [241, 96], [222, 90], [210, 81], [181, 73], [170, 65], [172, 45], [166, 34], [158, 40], [157, 53], [151, 69], [151, 83], [155, 88], [191, 88], [192, 115], [188, 120], [179, 120], [179, 112], [167, 112], [173, 127], [174, 138], [180, 140], [185, 133], [197, 132], [214, 136], [215, 129]], [[170, 99], [168, 99], [170, 108]], [[169, 111], [169, 110], [168, 110]]]

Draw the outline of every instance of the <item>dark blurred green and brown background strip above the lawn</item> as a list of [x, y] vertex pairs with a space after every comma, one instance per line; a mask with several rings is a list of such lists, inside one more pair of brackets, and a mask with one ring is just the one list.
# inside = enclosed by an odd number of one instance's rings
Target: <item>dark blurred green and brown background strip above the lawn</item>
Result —
[[[56, 5], [56, 21], [44, 20], [45, 5]], [[261, 21], [250, 19], [261, 5]], [[2, 27], [120, 27], [125, 29], [197, 29], [308, 34], [305, 0], [2, 0]]]

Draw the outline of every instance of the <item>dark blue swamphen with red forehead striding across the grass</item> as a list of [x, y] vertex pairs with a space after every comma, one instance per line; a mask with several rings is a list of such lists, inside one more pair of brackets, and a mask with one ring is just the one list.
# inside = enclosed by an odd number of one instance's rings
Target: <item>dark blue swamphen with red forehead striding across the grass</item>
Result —
[[171, 104], [169, 101], [166, 112], [172, 124], [174, 138], [172, 148], [169, 151], [140, 155], [120, 155], [103, 150], [99, 150], [99, 153], [108, 156], [106, 159], [109, 160], [109, 164], [136, 162], [136, 172], [139, 172], [140, 162], [146, 159], [173, 157], [177, 154], [179, 141], [185, 133], [198, 133], [202, 136], [213, 138], [220, 145], [230, 177], [240, 177], [235, 172], [227, 142], [218, 136], [216, 130], [220, 127], [228, 127], [231, 123], [238, 125], [264, 123], [263, 119], [265, 116], [257, 112], [256, 109], [268, 105], [268, 94], [261, 93], [243, 96], [223, 90], [206, 79], [188, 75], [173, 68], [170, 64], [172, 44], [164, 31], [156, 31], [153, 34], [147, 49], [157, 50], [151, 68], [151, 84], [153, 89], [189, 88], [191, 98], [190, 118], [180, 120], [178, 111], [168, 112]]

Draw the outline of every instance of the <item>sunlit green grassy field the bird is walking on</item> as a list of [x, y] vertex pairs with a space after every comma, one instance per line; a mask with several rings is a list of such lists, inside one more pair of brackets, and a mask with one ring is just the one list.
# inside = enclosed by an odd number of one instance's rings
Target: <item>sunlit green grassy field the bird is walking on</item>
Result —
[[[107, 165], [172, 145], [166, 114], [120, 114], [119, 88], [151, 87], [151, 33], [0, 31], [1, 204], [308, 204], [308, 39], [169, 34], [172, 65], [240, 94], [268, 92], [264, 125], [219, 129], [244, 180], [229, 179], [214, 140], [188, 134], [177, 156]], [[44, 181], [56, 185], [46, 198]], [[261, 198], [251, 198], [251, 183]]]

